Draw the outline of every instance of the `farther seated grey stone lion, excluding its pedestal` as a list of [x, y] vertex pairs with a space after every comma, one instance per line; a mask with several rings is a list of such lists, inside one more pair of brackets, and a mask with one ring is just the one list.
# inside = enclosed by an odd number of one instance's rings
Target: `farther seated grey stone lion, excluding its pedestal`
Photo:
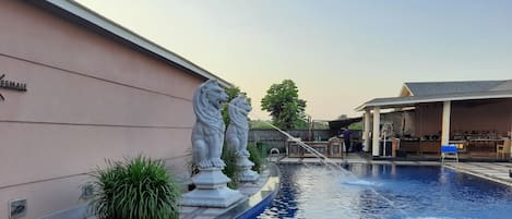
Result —
[[247, 115], [251, 110], [251, 106], [242, 96], [234, 98], [228, 106], [230, 122], [226, 131], [226, 142], [229, 147], [235, 148], [238, 156], [249, 156], [249, 151], [247, 151], [249, 133]]

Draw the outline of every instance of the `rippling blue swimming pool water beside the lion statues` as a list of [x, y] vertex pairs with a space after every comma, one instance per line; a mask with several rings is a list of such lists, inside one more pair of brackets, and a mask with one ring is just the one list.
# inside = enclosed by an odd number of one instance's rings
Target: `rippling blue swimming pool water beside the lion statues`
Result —
[[[281, 165], [281, 190], [258, 218], [512, 218], [512, 188], [442, 167]], [[356, 179], [352, 179], [355, 175]]]

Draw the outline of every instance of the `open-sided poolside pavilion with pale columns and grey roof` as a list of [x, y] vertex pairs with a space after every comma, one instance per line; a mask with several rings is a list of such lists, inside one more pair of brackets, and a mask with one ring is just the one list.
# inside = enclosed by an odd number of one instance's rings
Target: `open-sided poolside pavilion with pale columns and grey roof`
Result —
[[[382, 109], [393, 111], [381, 117]], [[409, 153], [439, 154], [441, 145], [456, 144], [465, 153], [492, 154], [511, 137], [512, 80], [405, 83], [398, 97], [376, 98], [357, 110], [365, 111], [364, 145], [373, 156], [384, 155], [383, 134], [401, 138]]]

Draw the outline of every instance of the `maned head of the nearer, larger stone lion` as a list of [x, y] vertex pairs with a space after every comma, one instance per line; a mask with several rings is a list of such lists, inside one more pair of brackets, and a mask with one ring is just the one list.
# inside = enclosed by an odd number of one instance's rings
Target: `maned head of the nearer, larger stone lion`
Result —
[[224, 130], [221, 113], [222, 104], [227, 95], [216, 80], [209, 80], [201, 84], [193, 96], [193, 109], [198, 121], [206, 125], [215, 125]]

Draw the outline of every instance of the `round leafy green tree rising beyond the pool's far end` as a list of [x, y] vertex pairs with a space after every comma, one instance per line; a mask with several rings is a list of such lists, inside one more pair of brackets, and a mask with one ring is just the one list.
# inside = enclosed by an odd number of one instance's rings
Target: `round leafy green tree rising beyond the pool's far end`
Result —
[[272, 123], [283, 130], [296, 129], [306, 121], [306, 100], [299, 99], [294, 81], [273, 84], [261, 99], [261, 109], [270, 112]]

